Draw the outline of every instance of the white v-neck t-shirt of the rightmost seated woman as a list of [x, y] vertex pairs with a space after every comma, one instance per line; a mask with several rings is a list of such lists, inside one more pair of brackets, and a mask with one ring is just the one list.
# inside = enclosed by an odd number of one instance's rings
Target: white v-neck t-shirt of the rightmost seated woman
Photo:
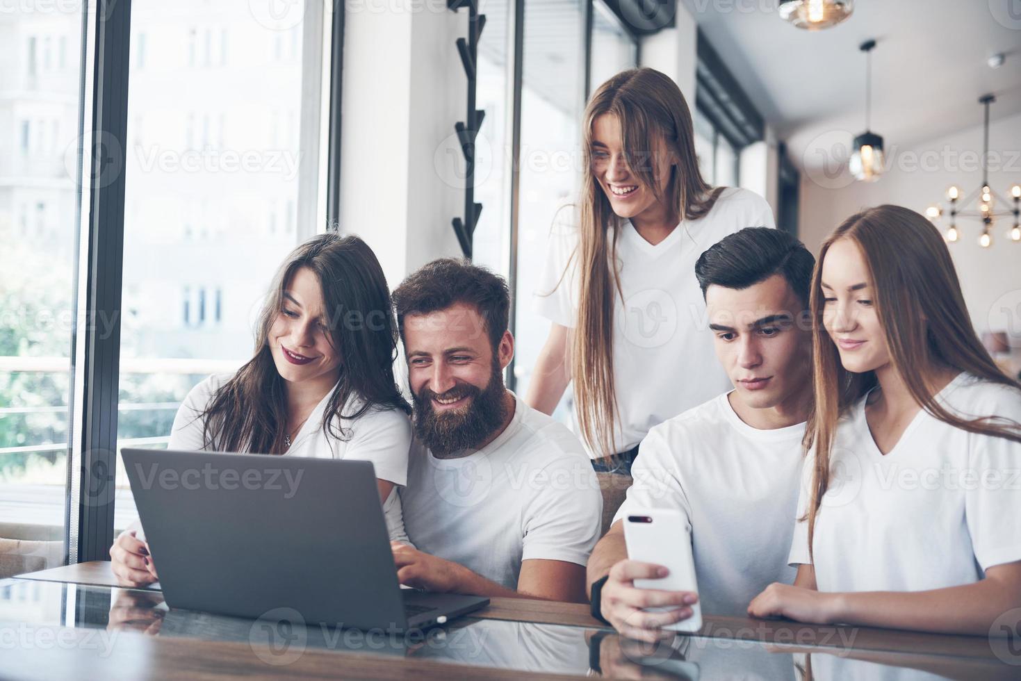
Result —
[[[922, 591], [971, 584], [1021, 561], [1021, 443], [977, 435], [924, 409], [883, 455], [863, 397], [837, 425], [830, 484], [816, 517], [820, 591]], [[960, 374], [937, 395], [965, 418], [1021, 422], [1021, 392]], [[806, 466], [797, 518], [809, 500]], [[790, 564], [808, 564], [796, 523]]]

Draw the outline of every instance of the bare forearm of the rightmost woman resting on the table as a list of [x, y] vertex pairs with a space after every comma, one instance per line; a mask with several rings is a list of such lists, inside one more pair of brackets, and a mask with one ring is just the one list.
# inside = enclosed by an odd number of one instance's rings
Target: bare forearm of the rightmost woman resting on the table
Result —
[[[805, 568], [798, 569], [795, 584]], [[824, 593], [771, 584], [748, 605], [748, 615], [987, 636], [996, 619], [1014, 609], [1021, 609], [1021, 561], [993, 566], [974, 584], [928, 591]]]

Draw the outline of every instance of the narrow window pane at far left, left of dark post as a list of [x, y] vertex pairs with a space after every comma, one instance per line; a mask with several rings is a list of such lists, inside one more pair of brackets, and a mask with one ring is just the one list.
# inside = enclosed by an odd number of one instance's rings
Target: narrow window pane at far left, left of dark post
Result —
[[0, 577], [65, 561], [81, 36], [0, 12]]

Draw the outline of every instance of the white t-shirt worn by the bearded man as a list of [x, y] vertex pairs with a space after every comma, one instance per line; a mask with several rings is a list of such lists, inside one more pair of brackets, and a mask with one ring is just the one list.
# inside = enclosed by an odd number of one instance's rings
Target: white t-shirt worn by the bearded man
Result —
[[517, 395], [510, 424], [478, 451], [436, 458], [416, 440], [400, 497], [416, 547], [508, 589], [522, 561], [584, 566], [599, 539], [602, 494], [581, 442]]

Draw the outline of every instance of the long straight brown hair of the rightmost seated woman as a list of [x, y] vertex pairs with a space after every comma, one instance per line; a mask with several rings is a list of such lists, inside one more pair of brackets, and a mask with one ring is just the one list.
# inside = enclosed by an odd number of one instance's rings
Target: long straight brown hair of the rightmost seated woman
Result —
[[993, 415], [961, 418], [943, 407], [927, 384], [932, 370], [943, 368], [1021, 390], [1021, 384], [1004, 374], [979, 342], [939, 231], [902, 206], [881, 205], [852, 215], [823, 243], [812, 281], [816, 400], [805, 435], [806, 450], [815, 446], [816, 451], [807, 513], [810, 555], [816, 517], [829, 485], [837, 421], [878, 384], [875, 372], [855, 374], [843, 368], [823, 327], [823, 262], [830, 246], [840, 239], [852, 240], [862, 251], [890, 363], [915, 401], [955, 428], [1021, 442], [1021, 424]]

